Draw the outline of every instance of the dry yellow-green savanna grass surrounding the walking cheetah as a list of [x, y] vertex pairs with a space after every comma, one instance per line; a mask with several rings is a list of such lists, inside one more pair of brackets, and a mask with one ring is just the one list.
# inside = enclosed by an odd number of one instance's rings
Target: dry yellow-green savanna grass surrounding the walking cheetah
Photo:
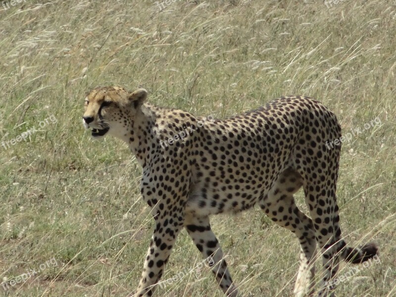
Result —
[[[137, 287], [153, 227], [141, 169], [126, 145], [92, 141], [81, 122], [84, 94], [110, 84], [220, 118], [306, 95], [337, 114], [344, 134], [363, 130], [342, 148], [341, 226], [350, 245], [376, 241], [380, 262], [353, 273], [342, 263], [348, 277], [336, 292], [396, 296], [396, 1], [213, 2], [0, 6], [0, 296], [128, 296]], [[259, 209], [212, 225], [243, 296], [291, 295], [293, 234]], [[223, 296], [200, 262], [183, 231], [163, 280], [187, 274], [156, 296]], [[40, 271], [21, 282], [28, 269]]]

